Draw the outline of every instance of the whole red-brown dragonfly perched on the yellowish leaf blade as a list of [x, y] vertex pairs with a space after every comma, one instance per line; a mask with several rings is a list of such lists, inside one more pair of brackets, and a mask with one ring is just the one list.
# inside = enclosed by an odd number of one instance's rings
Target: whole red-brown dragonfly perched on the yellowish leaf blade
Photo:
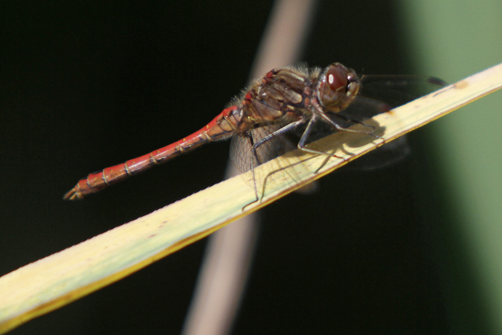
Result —
[[[376, 80], [382, 82], [381, 77]], [[385, 78], [383, 82], [386, 82]], [[395, 80], [387, 80], [387, 82], [389, 91], [400, 85], [399, 81]], [[442, 82], [437, 79], [436, 84], [442, 85]], [[82, 199], [88, 194], [98, 192], [122, 179], [204, 144], [233, 138], [240, 145], [236, 145], [233, 149], [232, 161], [241, 172], [248, 170], [253, 172], [253, 185], [258, 200], [254, 169], [267, 160], [260, 152], [265, 148], [271, 151], [270, 148], [274, 147], [272, 144], [278, 143], [278, 139], [284, 139], [288, 134], [296, 133], [299, 134], [296, 147], [301, 151], [314, 155], [338, 157], [308, 147], [308, 143], [312, 142], [312, 138], [319, 129], [319, 124], [324, 125], [324, 129], [332, 131], [363, 132], [380, 138], [372, 134], [373, 126], [365, 125], [359, 119], [364, 114], [366, 114], [365, 117], [372, 117], [384, 113], [391, 109], [391, 106], [385, 103], [373, 104], [377, 106], [377, 111], [374, 111], [375, 108], [373, 111], [366, 111], [370, 108], [365, 106], [367, 101], [358, 96], [360, 89], [361, 79], [355, 71], [340, 63], [332, 63], [324, 70], [307, 67], [273, 69], [263, 78], [253, 81], [247, 90], [232, 100], [229, 107], [223, 109], [200, 130], [146, 155], [91, 173], [81, 179], [63, 198]], [[413, 96], [415, 97], [417, 96]], [[354, 103], [354, 100], [361, 103]], [[368, 130], [349, 129], [349, 126], [353, 124], [362, 124]], [[257, 133], [261, 135], [257, 137]], [[243, 150], [250, 152], [244, 155], [239, 152]], [[250, 159], [242, 157], [250, 157]]]

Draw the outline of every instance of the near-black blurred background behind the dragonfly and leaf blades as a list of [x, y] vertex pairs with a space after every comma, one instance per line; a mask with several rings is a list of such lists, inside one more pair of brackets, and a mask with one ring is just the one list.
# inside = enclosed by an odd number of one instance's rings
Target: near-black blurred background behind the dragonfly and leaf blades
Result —
[[[179, 140], [217, 115], [246, 85], [270, 9], [268, 1], [0, 5], [0, 274], [220, 181], [226, 142], [85, 201], [61, 200], [89, 172]], [[322, 1], [301, 59], [434, 75], [414, 71], [397, 14], [390, 1]], [[444, 334], [458, 322], [487, 331], [428, 132], [414, 132], [413, 154], [393, 167], [339, 171], [320, 180], [318, 193], [262, 210], [233, 333]], [[204, 245], [12, 334], [179, 333]]]

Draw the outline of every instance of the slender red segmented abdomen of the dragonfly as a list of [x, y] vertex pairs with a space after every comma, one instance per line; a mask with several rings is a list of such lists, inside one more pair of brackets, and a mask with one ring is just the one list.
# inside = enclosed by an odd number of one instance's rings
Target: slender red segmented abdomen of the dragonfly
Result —
[[63, 198], [68, 200], [82, 199], [87, 194], [95, 193], [108, 185], [168, 161], [205, 143], [227, 139], [236, 134], [241, 122], [242, 109], [237, 106], [225, 108], [204, 128], [182, 140], [125, 163], [89, 174], [87, 178], [81, 179]]

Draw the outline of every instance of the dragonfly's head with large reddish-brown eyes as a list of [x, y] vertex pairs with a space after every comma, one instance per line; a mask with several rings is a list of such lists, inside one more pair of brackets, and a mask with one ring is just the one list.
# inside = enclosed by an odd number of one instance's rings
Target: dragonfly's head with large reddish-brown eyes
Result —
[[319, 79], [317, 98], [324, 108], [333, 113], [347, 107], [359, 92], [357, 74], [340, 63], [328, 66]]

